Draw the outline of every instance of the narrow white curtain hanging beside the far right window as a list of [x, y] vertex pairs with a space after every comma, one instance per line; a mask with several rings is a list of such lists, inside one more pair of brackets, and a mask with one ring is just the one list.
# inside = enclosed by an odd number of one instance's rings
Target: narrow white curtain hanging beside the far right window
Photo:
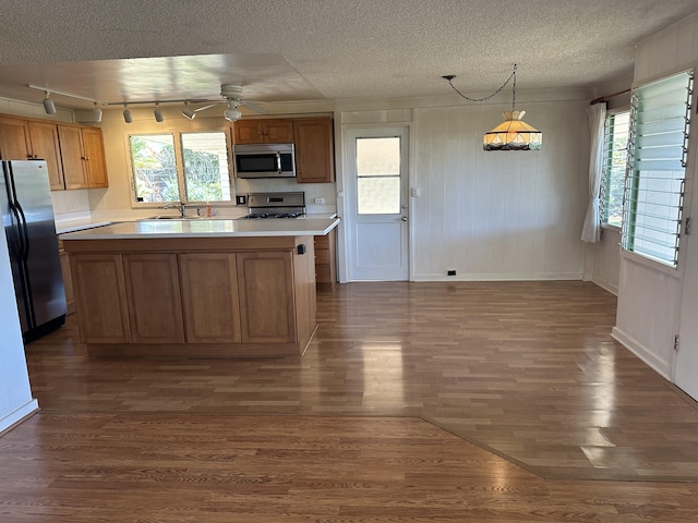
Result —
[[581, 241], [597, 243], [601, 240], [601, 179], [603, 177], [603, 131], [606, 122], [606, 102], [594, 104], [587, 108], [591, 131], [591, 158], [589, 160], [589, 206]]

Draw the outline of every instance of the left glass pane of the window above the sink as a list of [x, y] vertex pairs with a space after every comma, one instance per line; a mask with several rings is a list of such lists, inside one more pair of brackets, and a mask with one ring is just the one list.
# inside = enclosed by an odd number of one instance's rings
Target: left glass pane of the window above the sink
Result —
[[171, 134], [130, 136], [136, 202], [179, 202], [174, 138]]

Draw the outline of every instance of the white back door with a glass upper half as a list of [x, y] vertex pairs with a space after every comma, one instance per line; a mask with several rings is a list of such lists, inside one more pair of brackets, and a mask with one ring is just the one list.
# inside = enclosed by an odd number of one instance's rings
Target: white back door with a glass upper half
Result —
[[347, 132], [349, 281], [406, 281], [408, 270], [408, 130]]

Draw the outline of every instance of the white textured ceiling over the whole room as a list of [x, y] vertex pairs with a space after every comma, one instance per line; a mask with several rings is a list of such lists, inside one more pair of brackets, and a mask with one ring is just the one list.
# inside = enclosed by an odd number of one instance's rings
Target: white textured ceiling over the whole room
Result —
[[[0, 0], [0, 97], [266, 101], [589, 87], [698, 0]], [[59, 107], [86, 107], [53, 96]], [[88, 104], [89, 105], [89, 104]]]

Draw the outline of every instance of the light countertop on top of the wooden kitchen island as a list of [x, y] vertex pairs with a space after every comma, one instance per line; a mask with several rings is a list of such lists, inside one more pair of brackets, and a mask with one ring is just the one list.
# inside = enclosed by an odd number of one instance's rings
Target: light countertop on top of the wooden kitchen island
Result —
[[339, 218], [228, 220], [144, 220], [113, 223], [61, 234], [62, 240], [124, 240], [136, 238], [323, 236]]

